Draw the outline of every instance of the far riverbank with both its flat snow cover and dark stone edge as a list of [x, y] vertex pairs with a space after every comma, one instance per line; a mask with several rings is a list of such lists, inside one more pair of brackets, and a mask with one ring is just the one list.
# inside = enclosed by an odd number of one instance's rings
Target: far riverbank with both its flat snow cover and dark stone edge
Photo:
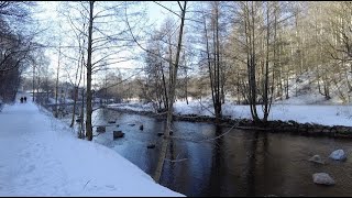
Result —
[[[272, 114], [266, 125], [254, 123], [251, 119], [246, 118], [249, 116], [244, 117], [246, 114], [245, 111], [249, 111], [245, 108], [249, 109], [248, 106], [224, 106], [224, 117], [221, 119], [220, 124], [235, 124], [234, 128], [237, 129], [274, 133], [284, 132], [307, 136], [352, 138], [352, 120], [349, 106], [276, 105], [272, 109]], [[165, 113], [156, 113], [151, 105], [119, 103], [109, 105], [108, 109], [150, 116], [157, 119], [166, 118]], [[275, 120], [274, 118], [279, 119]], [[190, 102], [190, 105], [176, 102], [174, 120], [209, 123], [216, 121], [207, 102], [199, 106], [196, 102]], [[307, 122], [307, 120], [314, 122]]]

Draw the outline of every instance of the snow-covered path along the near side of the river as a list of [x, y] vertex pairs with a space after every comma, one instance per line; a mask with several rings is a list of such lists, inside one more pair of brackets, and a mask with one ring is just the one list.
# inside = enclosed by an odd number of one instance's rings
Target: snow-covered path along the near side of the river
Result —
[[32, 102], [0, 112], [0, 196], [183, 196]]

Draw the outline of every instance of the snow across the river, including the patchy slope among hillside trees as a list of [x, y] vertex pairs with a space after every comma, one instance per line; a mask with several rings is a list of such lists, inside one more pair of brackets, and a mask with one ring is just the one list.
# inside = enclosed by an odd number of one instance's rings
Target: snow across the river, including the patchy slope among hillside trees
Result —
[[[298, 79], [298, 80], [297, 80]], [[289, 79], [289, 99], [273, 101], [268, 120], [294, 120], [299, 123], [317, 123], [323, 125], [352, 127], [352, 103], [344, 103], [339, 98], [337, 90], [331, 88], [330, 100], [319, 94], [314, 72]], [[227, 96], [222, 105], [222, 114], [232, 119], [252, 119], [250, 106], [237, 105], [235, 98]], [[153, 105], [116, 103], [110, 108], [130, 109], [134, 111], [155, 111]], [[263, 118], [263, 107], [256, 107], [260, 118]], [[175, 114], [198, 114], [215, 117], [211, 96], [186, 101], [176, 100], [174, 103]]]

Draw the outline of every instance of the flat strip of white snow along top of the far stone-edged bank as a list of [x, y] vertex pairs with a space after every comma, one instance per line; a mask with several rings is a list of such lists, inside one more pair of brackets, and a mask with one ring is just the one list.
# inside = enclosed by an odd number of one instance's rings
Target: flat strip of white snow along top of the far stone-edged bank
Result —
[[[305, 98], [293, 99], [295, 105], [283, 102], [272, 105], [268, 120], [294, 120], [299, 123], [317, 123], [323, 125], [349, 125], [352, 127], [352, 106], [349, 105], [304, 105]], [[299, 100], [301, 100], [299, 102]], [[154, 111], [150, 106], [133, 107], [124, 103], [110, 105], [110, 108], [131, 109], [134, 111]], [[260, 118], [263, 118], [263, 108], [261, 105], [256, 107]], [[175, 114], [199, 114], [215, 117], [212, 102], [210, 99], [176, 101], [174, 103]], [[227, 101], [222, 105], [222, 114], [232, 119], [251, 119], [250, 106], [240, 106], [234, 102]]]

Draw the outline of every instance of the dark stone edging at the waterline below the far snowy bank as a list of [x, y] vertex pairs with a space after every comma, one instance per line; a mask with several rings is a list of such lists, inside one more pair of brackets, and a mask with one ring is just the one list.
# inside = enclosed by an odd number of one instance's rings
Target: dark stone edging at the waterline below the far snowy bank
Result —
[[[116, 110], [127, 113], [138, 113], [143, 116], [153, 117], [156, 119], [166, 119], [165, 113], [155, 113], [152, 111], [135, 111], [131, 109], [122, 108], [109, 108], [110, 110]], [[215, 123], [216, 118], [209, 116], [198, 116], [198, 114], [174, 114], [174, 120], [189, 121], [189, 122], [209, 122]], [[266, 124], [255, 123], [249, 119], [230, 119], [223, 118], [220, 120], [221, 125], [233, 125], [237, 129], [242, 130], [257, 130], [273, 133], [292, 133], [307, 136], [330, 136], [330, 138], [352, 138], [352, 127], [345, 125], [323, 125], [317, 123], [298, 123], [294, 120], [289, 121], [268, 121]]]

